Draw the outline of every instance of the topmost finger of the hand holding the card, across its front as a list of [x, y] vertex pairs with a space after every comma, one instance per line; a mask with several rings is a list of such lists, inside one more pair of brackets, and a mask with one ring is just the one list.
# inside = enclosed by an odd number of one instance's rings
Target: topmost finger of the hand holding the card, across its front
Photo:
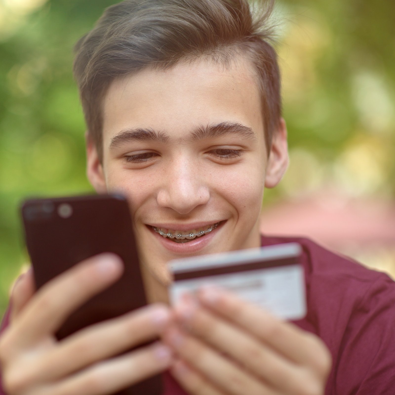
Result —
[[237, 295], [210, 286], [202, 288], [199, 301], [265, 342], [286, 358], [316, 367], [326, 375], [330, 369], [330, 354], [322, 340], [294, 324], [284, 322]]

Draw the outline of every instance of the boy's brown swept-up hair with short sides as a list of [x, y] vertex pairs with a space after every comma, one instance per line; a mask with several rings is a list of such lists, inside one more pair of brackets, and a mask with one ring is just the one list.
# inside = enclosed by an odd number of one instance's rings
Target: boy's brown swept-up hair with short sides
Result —
[[273, 1], [256, 1], [262, 7], [254, 11], [248, 0], [125, 0], [107, 8], [77, 42], [73, 68], [88, 134], [100, 160], [102, 99], [111, 81], [147, 67], [166, 70], [202, 56], [225, 66], [236, 55], [250, 58], [257, 71], [270, 147], [281, 117], [280, 73], [269, 43]]

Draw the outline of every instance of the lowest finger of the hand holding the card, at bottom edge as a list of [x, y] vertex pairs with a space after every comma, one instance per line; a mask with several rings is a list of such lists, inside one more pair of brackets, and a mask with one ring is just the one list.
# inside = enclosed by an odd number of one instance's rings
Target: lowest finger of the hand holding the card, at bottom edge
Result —
[[224, 395], [223, 392], [214, 388], [200, 373], [193, 370], [181, 359], [171, 365], [170, 372], [190, 395]]

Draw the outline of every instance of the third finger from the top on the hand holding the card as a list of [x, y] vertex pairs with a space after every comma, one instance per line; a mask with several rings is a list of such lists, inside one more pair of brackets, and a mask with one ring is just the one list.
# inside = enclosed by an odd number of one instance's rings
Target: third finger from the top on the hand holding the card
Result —
[[276, 394], [226, 357], [174, 327], [165, 333], [164, 339], [177, 355], [225, 393], [231, 395]]

